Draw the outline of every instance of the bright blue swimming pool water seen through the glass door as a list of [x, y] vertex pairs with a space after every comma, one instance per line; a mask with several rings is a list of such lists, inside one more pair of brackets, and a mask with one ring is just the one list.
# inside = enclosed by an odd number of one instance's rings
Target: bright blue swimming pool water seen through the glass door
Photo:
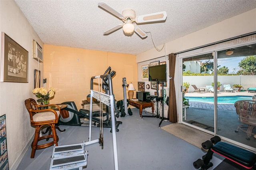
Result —
[[[213, 97], [186, 97], [189, 101], [214, 103]], [[252, 100], [252, 96], [219, 96], [218, 103], [235, 103], [238, 100]]]

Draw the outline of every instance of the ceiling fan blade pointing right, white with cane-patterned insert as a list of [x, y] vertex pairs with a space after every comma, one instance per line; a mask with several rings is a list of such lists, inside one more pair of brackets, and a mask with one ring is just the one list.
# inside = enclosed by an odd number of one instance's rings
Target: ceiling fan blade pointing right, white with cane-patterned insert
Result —
[[166, 17], [167, 17], [167, 14], [165, 11], [155, 12], [152, 14], [137, 16], [135, 18], [135, 22], [144, 23], [144, 22], [164, 21], [166, 20]]

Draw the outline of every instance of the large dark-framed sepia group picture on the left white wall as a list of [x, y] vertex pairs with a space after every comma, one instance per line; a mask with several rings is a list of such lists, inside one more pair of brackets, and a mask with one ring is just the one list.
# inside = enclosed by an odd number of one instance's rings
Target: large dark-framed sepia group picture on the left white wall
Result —
[[1, 81], [28, 83], [28, 51], [1, 33]]

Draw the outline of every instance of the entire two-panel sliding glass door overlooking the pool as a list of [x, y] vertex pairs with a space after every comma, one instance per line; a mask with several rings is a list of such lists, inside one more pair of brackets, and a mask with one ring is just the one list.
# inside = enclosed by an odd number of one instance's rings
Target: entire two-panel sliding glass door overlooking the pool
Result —
[[255, 42], [180, 55], [182, 123], [256, 151], [256, 118], [245, 123], [238, 119], [241, 105], [235, 107], [237, 101], [256, 99]]

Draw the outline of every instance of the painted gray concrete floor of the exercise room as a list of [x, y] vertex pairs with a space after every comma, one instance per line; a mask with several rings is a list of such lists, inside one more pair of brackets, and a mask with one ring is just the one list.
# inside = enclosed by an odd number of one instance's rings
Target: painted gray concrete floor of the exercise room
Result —
[[[194, 170], [193, 162], [206, 153], [204, 150], [166, 132], [158, 125], [161, 119], [139, 116], [138, 109], [132, 109], [132, 116], [119, 117], [122, 121], [116, 132], [118, 167], [120, 170]], [[142, 113], [145, 115], [146, 113]], [[163, 121], [161, 126], [170, 125]], [[82, 143], [88, 140], [89, 127], [60, 126], [59, 146]], [[99, 138], [99, 128], [92, 127], [92, 139]], [[49, 170], [53, 146], [36, 150], [35, 158], [30, 158], [28, 149], [18, 166], [18, 170]], [[86, 146], [87, 166], [84, 170], [114, 170], [112, 133], [104, 128], [104, 148], [98, 143]], [[214, 155], [213, 170], [224, 158]]]

